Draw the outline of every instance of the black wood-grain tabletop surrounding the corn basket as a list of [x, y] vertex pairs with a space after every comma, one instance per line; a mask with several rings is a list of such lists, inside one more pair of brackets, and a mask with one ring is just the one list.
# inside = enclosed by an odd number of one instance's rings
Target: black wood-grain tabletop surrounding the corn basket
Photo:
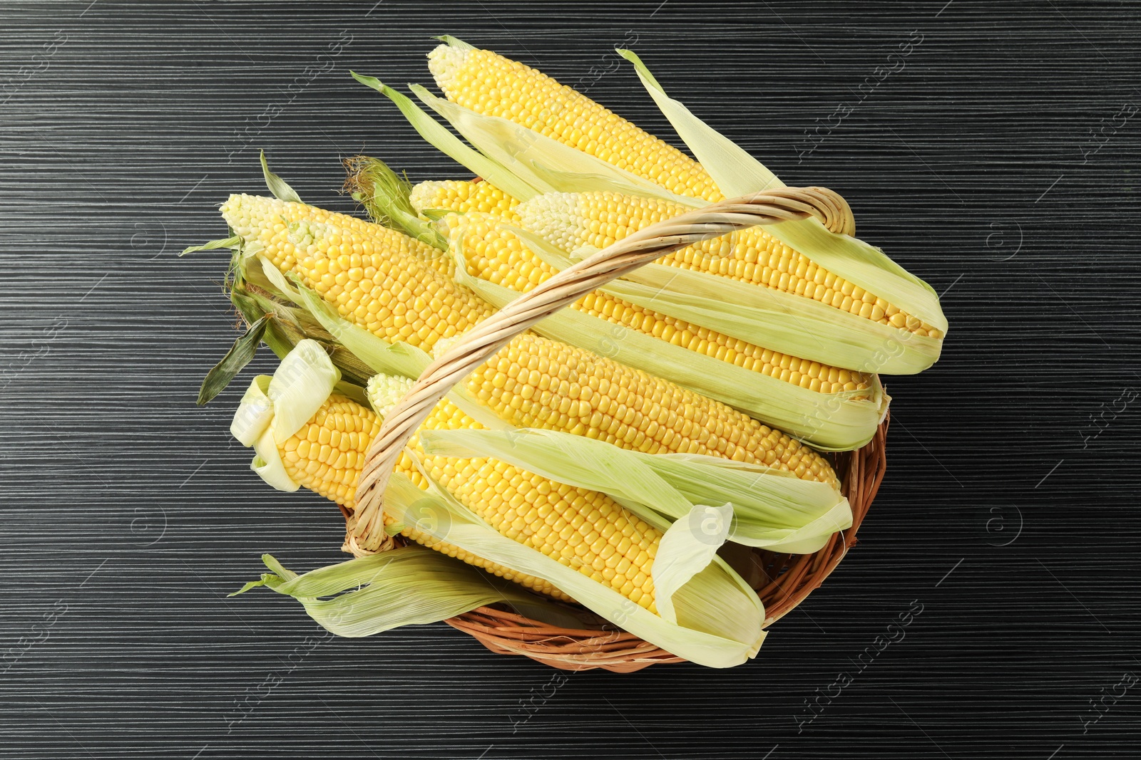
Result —
[[[348, 76], [427, 83], [443, 33], [675, 139], [632, 47], [944, 294], [859, 546], [747, 665], [563, 683], [443, 624], [332, 639], [226, 598], [264, 551], [339, 561], [342, 521], [249, 471], [241, 383], [195, 408], [234, 318], [224, 256], [176, 254], [262, 191], [258, 148], [337, 211], [356, 152], [463, 175]], [[2, 754], [1135, 757], [1139, 41], [1125, 2], [3, 3]]]

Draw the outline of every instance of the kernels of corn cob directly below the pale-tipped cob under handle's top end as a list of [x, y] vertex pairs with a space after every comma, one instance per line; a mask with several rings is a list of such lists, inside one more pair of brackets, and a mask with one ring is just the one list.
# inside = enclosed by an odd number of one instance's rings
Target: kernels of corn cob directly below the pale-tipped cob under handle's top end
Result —
[[[453, 210], [456, 205], [453, 201]], [[469, 212], [463, 222], [454, 216], [443, 221], [448, 227], [452, 244], [462, 245], [468, 273], [474, 277], [526, 293], [556, 273], [517, 235], [502, 229], [500, 220], [493, 216]], [[586, 294], [569, 308], [811, 391], [836, 393], [867, 390], [872, 385], [871, 377], [865, 374], [770, 351], [699, 325], [657, 313], [602, 291]]]

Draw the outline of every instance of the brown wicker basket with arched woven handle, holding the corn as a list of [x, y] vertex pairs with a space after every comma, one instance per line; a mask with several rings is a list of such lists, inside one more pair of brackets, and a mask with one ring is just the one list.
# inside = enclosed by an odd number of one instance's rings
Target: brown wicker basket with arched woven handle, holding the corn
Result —
[[[815, 216], [835, 232], [851, 235], [855, 222], [848, 204], [824, 188], [780, 188], [723, 201], [652, 224], [590, 259], [569, 267], [488, 317], [436, 359], [385, 418], [373, 441], [356, 492], [355, 512], [345, 512], [345, 549], [356, 556], [396, 545], [383, 530], [383, 499], [388, 477], [407, 441], [436, 403], [512, 337], [544, 317], [606, 283], [672, 251], [754, 224]], [[887, 418], [875, 436], [858, 451], [834, 457], [843, 473], [842, 490], [852, 509], [852, 525], [834, 534], [814, 554], [786, 555], [753, 549], [754, 587], [766, 608], [768, 627], [800, 604], [835, 569], [856, 542], [887, 466]], [[598, 619], [590, 629], [550, 626], [495, 606], [479, 607], [446, 621], [499, 654], [519, 654], [564, 670], [601, 668], [632, 672], [681, 657]]]

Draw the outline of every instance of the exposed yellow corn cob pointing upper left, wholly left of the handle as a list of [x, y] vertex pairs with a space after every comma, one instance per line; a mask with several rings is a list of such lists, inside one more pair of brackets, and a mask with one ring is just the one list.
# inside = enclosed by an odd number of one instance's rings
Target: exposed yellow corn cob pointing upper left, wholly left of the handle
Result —
[[494, 311], [453, 281], [448, 256], [396, 230], [249, 195], [230, 196], [221, 212], [277, 269], [294, 272], [341, 317], [387, 341], [430, 351]]

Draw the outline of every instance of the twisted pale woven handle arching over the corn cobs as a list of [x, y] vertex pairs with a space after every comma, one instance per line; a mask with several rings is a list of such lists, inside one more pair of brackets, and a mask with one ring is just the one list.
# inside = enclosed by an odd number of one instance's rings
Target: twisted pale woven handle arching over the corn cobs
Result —
[[400, 452], [436, 403], [516, 335], [591, 291], [678, 248], [754, 224], [808, 216], [816, 216], [834, 232], [855, 234], [851, 209], [832, 190], [784, 187], [754, 193], [650, 224], [564, 269], [476, 325], [424, 369], [385, 417], [357, 482], [346, 548], [362, 556], [391, 547], [393, 539], [385, 532], [383, 493]]

